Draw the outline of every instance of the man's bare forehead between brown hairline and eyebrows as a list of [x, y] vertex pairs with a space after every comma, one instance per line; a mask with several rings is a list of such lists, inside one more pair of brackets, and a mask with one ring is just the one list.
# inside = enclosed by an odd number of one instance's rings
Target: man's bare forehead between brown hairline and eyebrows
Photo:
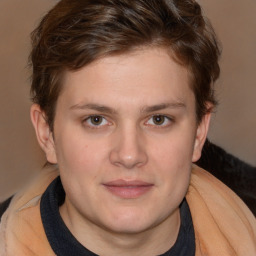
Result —
[[[90, 103], [154, 105], [185, 102], [193, 98], [188, 70], [162, 48], [143, 48], [107, 56], [67, 72], [60, 100], [70, 104]], [[121, 100], [120, 100], [121, 99]], [[126, 101], [127, 100], [127, 101]]]

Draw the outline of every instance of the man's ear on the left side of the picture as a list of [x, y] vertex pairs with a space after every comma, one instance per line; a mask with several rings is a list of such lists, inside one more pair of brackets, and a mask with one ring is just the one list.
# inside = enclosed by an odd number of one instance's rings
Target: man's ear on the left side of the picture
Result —
[[56, 164], [57, 157], [53, 134], [46, 121], [45, 113], [38, 104], [33, 104], [30, 109], [30, 118], [36, 131], [36, 136], [40, 147], [46, 154], [47, 161]]

